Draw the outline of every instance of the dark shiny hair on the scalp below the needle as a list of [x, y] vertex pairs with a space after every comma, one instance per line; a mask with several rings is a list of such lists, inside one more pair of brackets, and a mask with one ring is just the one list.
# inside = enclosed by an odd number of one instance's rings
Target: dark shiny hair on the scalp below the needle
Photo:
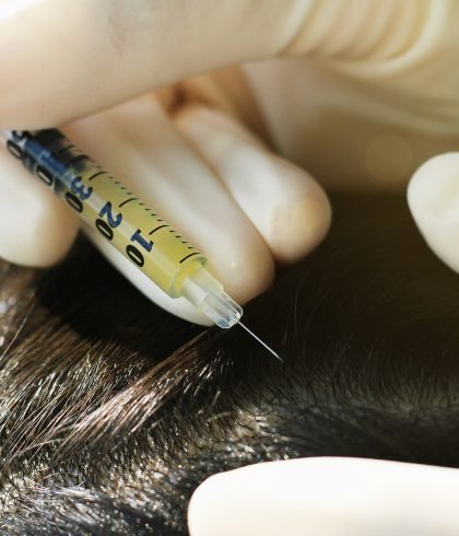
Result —
[[337, 196], [307, 259], [202, 329], [84, 241], [47, 270], [0, 266], [3, 534], [186, 533], [209, 475], [344, 455], [459, 466], [459, 280], [400, 197]]

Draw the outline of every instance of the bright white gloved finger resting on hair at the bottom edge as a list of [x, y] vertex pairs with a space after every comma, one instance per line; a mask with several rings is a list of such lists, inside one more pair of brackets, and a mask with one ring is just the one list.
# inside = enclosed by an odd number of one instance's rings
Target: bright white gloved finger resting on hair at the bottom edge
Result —
[[215, 475], [193, 493], [191, 536], [454, 536], [457, 469], [299, 458]]

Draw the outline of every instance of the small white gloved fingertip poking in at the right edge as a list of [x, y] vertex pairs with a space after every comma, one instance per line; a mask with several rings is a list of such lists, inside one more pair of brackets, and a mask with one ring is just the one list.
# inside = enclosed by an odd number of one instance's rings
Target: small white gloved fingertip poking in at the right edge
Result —
[[459, 272], [459, 153], [423, 164], [411, 178], [408, 203], [427, 244]]

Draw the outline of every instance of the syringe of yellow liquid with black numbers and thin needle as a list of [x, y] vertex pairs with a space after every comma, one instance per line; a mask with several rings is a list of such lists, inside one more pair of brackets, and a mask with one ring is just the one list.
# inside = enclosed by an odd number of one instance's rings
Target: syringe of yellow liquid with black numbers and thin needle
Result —
[[[205, 257], [57, 129], [2, 132], [10, 153], [170, 298], [185, 298], [219, 327], [243, 308], [205, 268]], [[282, 360], [281, 360], [282, 361]]]

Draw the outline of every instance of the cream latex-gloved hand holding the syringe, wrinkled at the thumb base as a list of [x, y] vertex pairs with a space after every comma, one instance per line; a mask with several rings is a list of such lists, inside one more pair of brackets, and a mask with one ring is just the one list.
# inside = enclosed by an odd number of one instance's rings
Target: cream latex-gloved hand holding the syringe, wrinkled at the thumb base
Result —
[[[0, 128], [66, 124], [162, 86], [67, 132], [200, 247], [244, 303], [275, 261], [321, 240], [330, 208], [242, 123], [262, 133], [258, 106], [271, 141], [328, 187], [400, 188], [459, 140], [458, 18], [454, 0], [0, 0]], [[244, 71], [256, 100], [237, 69], [181, 82], [272, 57], [282, 59]], [[0, 191], [0, 255], [61, 258], [74, 214], [4, 152]]]

